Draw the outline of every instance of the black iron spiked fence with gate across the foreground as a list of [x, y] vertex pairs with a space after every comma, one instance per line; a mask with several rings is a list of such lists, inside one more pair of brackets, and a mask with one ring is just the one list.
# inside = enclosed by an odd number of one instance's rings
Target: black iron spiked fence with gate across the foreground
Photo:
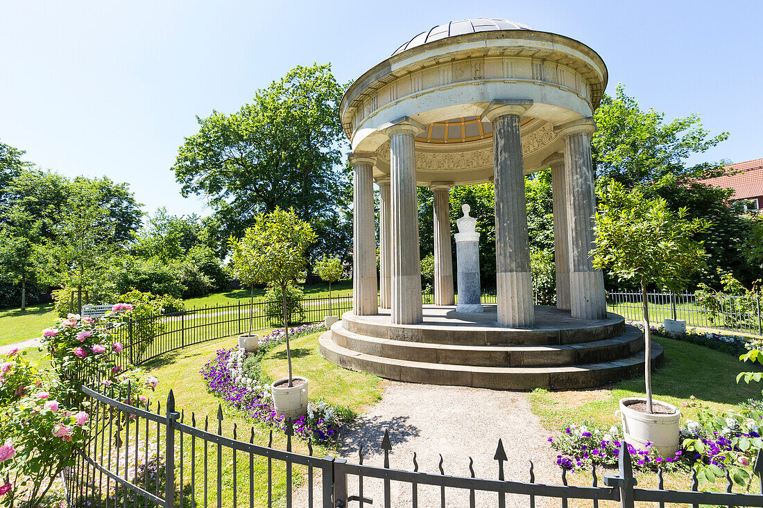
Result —
[[[163, 409], [151, 402], [142, 406], [123, 404], [114, 400], [113, 394], [107, 394], [105, 387], [94, 390], [83, 386], [82, 392], [89, 402], [92, 433], [79, 450], [76, 465], [63, 475], [69, 506], [343, 508], [357, 503], [361, 507], [444, 508], [453, 506], [452, 500], [458, 499], [456, 506], [504, 508], [507, 496], [522, 497], [526, 506], [532, 507], [539, 498], [561, 500], [565, 507], [569, 500], [590, 500], [594, 507], [605, 500], [627, 508], [636, 501], [659, 506], [763, 506], [761, 494], [732, 493], [728, 474], [725, 493], [698, 491], [696, 473], [692, 474], [692, 490], [665, 490], [662, 471], [658, 471], [660, 488], [637, 488], [624, 444], [617, 471], [601, 474], [592, 467], [590, 486], [569, 485], [566, 470], [562, 471], [561, 484], [536, 482], [532, 461], [526, 481], [507, 480], [504, 464], [508, 458], [501, 441], [494, 455], [496, 477], [475, 477], [471, 458], [471, 475], [461, 477], [445, 474], [442, 461], [439, 473], [418, 471], [415, 455], [414, 471], [391, 468], [392, 446], [387, 432], [381, 440], [383, 465], [367, 465], [363, 464], [362, 450], [357, 462], [314, 456], [311, 442], [307, 443], [307, 453], [295, 452], [290, 421], [285, 427], [286, 444], [282, 450], [272, 446], [272, 431], [269, 445], [263, 446], [254, 442], [261, 432], [254, 427], [240, 431], [234, 425], [224, 430], [221, 407], [211, 422], [208, 416], [202, 422], [194, 413], [178, 411], [172, 391]], [[754, 469], [758, 471], [757, 466]], [[297, 477], [301, 485], [295, 487]], [[374, 497], [369, 497], [372, 482], [376, 488]], [[397, 490], [394, 504], [393, 484], [404, 487]], [[427, 488], [430, 496], [421, 498], [422, 490]]]

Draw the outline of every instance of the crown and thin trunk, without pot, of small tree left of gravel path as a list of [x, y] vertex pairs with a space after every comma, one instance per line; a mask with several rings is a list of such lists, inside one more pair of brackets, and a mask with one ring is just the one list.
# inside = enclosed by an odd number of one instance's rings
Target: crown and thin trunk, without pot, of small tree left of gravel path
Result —
[[230, 240], [231, 257], [240, 256], [240, 263], [246, 266], [247, 280], [281, 288], [289, 387], [293, 382], [286, 291], [291, 281], [304, 271], [305, 251], [315, 236], [310, 224], [300, 220], [294, 210], [275, 207], [269, 214], [256, 217], [254, 226], [246, 229], [242, 240]]

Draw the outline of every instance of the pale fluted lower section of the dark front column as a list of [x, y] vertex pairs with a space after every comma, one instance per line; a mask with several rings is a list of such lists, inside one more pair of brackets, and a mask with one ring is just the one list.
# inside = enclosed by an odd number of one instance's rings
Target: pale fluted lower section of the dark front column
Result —
[[535, 325], [533, 279], [530, 272], [496, 275], [498, 324], [526, 328]]

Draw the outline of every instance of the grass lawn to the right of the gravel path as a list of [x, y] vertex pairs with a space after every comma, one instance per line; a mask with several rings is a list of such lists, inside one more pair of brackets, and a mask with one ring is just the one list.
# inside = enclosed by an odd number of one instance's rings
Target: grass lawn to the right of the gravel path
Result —
[[[652, 375], [655, 398], [681, 407], [682, 402], [694, 395], [699, 404], [718, 410], [734, 407], [748, 398], [761, 397], [763, 384], [736, 384], [739, 371], [761, 370], [759, 365], [757, 368], [749, 363], [743, 365], [735, 356], [674, 339], [655, 337], [655, 342], [665, 349], [665, 362]], [[589, 422], [599, 426], [619, 423], [620, 417], [615, 415], [619, 400], [644, 396], [644, 378], [639, 376], [591, 390], [549, 392], [537, 389], [528, 394], [528, 399], [531, 410], [540, 417], [543, 425], [552, 432], [559, 432], [570, 423]], [[684, 422], [687, 418], [696, 420], [697, 407], [681, 407], [681, 413]], [[569, 477], [574, 484], [591, 484], [588, 473]], [[641, 487], [657, 485], [655, 474], [639, 473], [636, 478]], [[665, 474], [665, 488], [688, 490], [690, 484], [688, 473]], [[716, 488], [722, 487], [725, 487], [725, 481], [723, 485], [716, 482]], [[755, 486], [753, 490], [756, 490]]]

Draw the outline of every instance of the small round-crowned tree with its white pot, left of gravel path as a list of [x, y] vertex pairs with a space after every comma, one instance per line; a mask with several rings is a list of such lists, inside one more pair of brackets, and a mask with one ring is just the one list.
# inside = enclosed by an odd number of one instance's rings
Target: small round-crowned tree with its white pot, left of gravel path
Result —
[[304, 270], [307, 262], [304, 252], [315, 236], [310, 224], [300, 220], [294, 209], [285, 211], [276, 207], [271, 213], [256, 217], [254, 226], [247, 228], [241, 240], [250, 246], [253, 280], [281, 290], [288, 377], [276, 380], [271, 392], [275, 413], [293, 419], [307, 414], [308, 382], [307, 378], [295, 377], [291, 371], [286, 291]]

